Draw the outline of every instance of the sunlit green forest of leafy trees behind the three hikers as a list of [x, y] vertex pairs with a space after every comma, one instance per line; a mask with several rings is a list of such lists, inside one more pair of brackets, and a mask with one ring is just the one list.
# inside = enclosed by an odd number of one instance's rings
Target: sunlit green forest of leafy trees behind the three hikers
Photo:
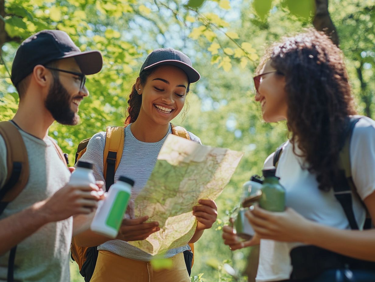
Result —
[[[81, 124], [54, 123], [49, 130], [69, 153], [71, 164], [80, 140], [123, 124], [130, 88], [147, 54], [156, 48], [180, 49], [202, 78], [192, 85], [187, 111], [173, 122], [199, 136], [204, 145], [245, 152], [216, 201], [217, 222], [195, 244], [191, 279], [247, 281], [250, 249], [231, 252], [220, 229], [239, 204], [242, 184], [261, 173], [263, 161], [288, 137], [285, 122], [263, 122], [254, 101], [252, 76], [264, 49], [303, 28], [336, 27], [333, 39], [339, 39], [345, 54], [357, 109], [374, 118], [375, 0], [329, 0], [328, 9], [327, 4], [328, 0], [0, 0], [0, 120], [11, 119], [17, 110], [18, 94], [9, 78], [15, 51], [37, 31], [64, 30], [82, 50], [98, 49], [104, 56], [102, 71], [87, 78], [90, 96], [80, 106]], [[319, 13], [323, 21], [317, 22]], [[83, 281], [75, 263], [71, 273], [72, 281]]]

